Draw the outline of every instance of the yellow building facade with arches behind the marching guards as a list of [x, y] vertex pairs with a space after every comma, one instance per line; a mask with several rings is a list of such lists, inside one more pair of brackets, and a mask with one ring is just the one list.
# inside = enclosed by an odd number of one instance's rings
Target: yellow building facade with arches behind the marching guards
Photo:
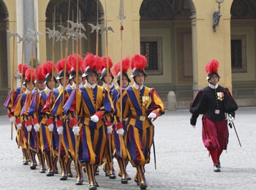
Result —
[[[18, 39], [13, 43], [6, 31], [23, 36], [37, 28], [42, 33], [37, 43], [39, 62], [53, 58], [56, 62], [65, 57], [66, 42], [54, 42], [53, 53], [45, 28], [61, 31], [59, 25], [67, 27], [67, 20], [79, 20], [87, 38], [79, 45], [82, 55], [108, 53], [114, 63], [135, 53], [147, 56], [146, 85], [156, 88], [165, 102], [168, 92], [174, 91], [176, 107], [189, 107], [195, 93], [207, 85], [205, 64], [216, 58], [220, 85], [230, 88], [238, 105], [256, 105], [256, 2], [223, 1], [219, 26], [213, 27], [217, 11], [215, 0], [124, 0], [121, 35], [119, 0], [79, 0], [78, 4], [77, 0], [0, 0], [0, 101], [4, 102], [12, 80], [19, 85], [18, 77], [12, 77], [13, 63], [16, 72], [22, 51], [26, 64], [33, 52], [31, 43], [24, 47]], [[89, 23], [111, 26], [113, 31], [102, 32], [97, 41]], [[68, 54], [76, 52], [75, 45], [71, 37]]]

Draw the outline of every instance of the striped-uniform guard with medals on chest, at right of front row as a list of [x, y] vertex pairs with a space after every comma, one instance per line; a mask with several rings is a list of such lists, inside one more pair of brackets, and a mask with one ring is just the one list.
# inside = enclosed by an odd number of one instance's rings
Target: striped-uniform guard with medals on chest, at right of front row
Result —
[[[123, 123], [120, 118], [127, 120], [127, 152], [129, 161], [136, 167], [135, 182], [140, 189], [146, 189], [145, 164], [150, 161], [150, 149], [154, 142], [153, 121], [165, 113], [165, 105], [159, 98], [154, 88], [144, 86], [146, 72], [146, 57], [135, 54], [132, 57], [131, 68], [132, 78], [135, 81], [133, 86], [118, 94], [114, 104], [116, 105], [117, 134], [123, 135]], [[122, 98], [123, 109], [120, 110]], [[123, 132], [118, 130], [123, 129]]]

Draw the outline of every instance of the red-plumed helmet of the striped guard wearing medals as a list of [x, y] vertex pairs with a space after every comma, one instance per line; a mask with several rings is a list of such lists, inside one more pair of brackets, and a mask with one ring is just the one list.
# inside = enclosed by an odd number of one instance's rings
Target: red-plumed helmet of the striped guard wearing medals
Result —
[[132, 57], [132, 61], [131, 61], [131, 68], [133, 69], [131, 77], [135, 77], [136, 75], [138, 75], [139, 72], [142, 72], [143, 75], [145, 75], [146, 77], [147, 75], [144, 70], [146, 67], [146, 64], [147, 64], [147, 59], [145, 56], [142, 56], [140, 54], [135, 54]]

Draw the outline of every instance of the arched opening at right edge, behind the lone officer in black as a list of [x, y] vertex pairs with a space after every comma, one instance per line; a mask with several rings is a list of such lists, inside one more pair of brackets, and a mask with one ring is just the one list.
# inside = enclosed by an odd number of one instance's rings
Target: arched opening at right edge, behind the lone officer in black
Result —
[[233, 94], [252, 105], [256, 96], [256, 1], [234, 0], [230, 14]]

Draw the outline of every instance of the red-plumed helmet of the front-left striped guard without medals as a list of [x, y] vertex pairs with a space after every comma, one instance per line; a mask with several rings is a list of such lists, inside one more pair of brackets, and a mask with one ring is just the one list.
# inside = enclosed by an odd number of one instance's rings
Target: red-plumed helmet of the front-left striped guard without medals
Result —
[[86, 66], [86, 72], [82, 77], [87, 77], [93, 72], [98, 76], [99, 68], [102, 66], [102, 59], [99, 56], [94, 56], [92, 53], [87, 53], [84, 58], [84, 64]]

